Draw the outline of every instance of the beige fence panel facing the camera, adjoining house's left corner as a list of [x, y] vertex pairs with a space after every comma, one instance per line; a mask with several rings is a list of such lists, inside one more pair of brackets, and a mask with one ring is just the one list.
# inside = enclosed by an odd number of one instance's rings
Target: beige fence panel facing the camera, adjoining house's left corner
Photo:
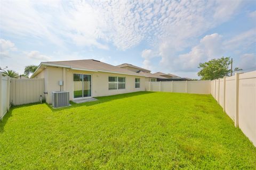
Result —
[[23, 105], [44, 99], [44, 79], [12, 79], [10, 102]]

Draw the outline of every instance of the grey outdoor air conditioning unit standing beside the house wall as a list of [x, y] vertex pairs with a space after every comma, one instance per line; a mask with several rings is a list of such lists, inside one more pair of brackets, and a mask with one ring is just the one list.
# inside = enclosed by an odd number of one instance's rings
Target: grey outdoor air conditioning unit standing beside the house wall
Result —
[[53, 107], [69, 106], [69, 92], [68, 91], [53, 91], [52, 92], [52, 106]]

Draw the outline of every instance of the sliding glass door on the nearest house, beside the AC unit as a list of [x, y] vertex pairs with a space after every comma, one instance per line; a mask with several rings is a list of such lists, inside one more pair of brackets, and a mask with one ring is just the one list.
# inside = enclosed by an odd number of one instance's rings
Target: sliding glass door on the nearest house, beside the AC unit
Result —
[[74, 98], [91, 97], [91, 75], [73, 74]]

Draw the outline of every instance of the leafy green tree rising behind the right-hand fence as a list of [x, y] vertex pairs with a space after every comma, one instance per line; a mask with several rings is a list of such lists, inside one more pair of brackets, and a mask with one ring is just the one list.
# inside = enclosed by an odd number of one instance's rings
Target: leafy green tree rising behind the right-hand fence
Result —
[[[199, 69], [201, 69], [197, 75], [202, 77], [201, 80], [214, 80], [227, 76], [231, 69], [229, 65], [231, 63], [230, 57], [221, 57], [218, 59], [210, 60], [209, 62], [199, 63]], [[239, 71], [238, 67], [234, 71]]]

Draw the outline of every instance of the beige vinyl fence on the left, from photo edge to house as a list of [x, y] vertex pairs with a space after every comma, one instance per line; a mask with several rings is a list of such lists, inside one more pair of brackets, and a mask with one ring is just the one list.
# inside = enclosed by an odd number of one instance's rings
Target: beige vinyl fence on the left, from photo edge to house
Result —
[[14, 79], [0, 73], [0, 120], [11, 105], [36, 103], [44, 99], [44, 79]]

